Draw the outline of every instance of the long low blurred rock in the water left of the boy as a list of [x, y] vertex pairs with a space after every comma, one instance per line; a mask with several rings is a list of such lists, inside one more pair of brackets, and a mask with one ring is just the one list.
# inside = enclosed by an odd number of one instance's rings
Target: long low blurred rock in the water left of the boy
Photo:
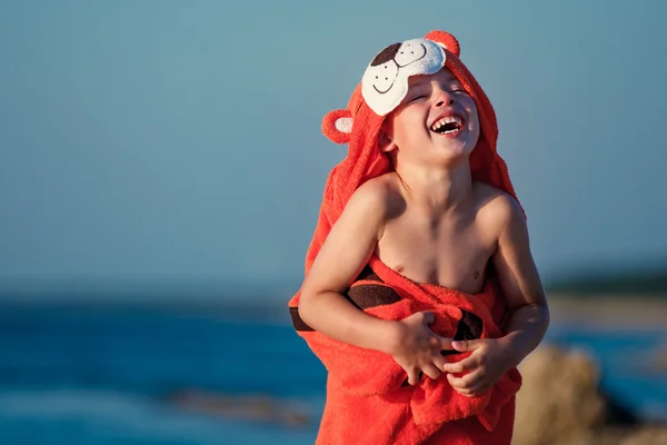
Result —
[[306, 409], [270, 396], [237, 396], [187, 389], [171, 394], [167, 400], [183, 409], [228, 418], [279, 423], [295, 427], [306, 426], [311, 422], [311, 415]]

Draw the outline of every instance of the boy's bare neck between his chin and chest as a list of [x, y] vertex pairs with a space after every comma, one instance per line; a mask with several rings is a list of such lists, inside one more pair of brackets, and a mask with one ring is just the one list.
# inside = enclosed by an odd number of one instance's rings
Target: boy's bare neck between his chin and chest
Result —
[[410, 199], [432, 212], [456, 210], [467, 202], [472, 194], [468, 159], [432, 169], [397, 165], [396, 172]]

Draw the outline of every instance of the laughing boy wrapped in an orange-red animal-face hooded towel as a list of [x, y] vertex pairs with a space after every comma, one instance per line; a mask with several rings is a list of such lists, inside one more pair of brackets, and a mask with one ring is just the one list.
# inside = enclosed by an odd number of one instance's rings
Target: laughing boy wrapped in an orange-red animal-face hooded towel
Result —
[[[386, 48], [364, 75], [362, 98], [325, 126], [350, 154], [329, 177], [307, 277], [290, 301], [298, 330], [318, 333], [303, 336], [329, 370], [319, 444], [510, 442], [515, 368], [549, 316], [495, 151], [492, 107], [458, 53], [442, 31]], [[405, 384], [366, 390], [349, 368], [379, 382], [396, 374], [382, 356]], [[427, 402], [451, 413], [425, 412]]]

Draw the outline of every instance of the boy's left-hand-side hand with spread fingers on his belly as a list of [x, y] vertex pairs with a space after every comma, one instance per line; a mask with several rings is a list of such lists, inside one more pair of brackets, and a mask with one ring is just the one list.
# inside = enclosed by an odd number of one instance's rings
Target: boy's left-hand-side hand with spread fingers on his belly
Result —
[[452, 349], [451, 338], [440, 337], [428, 326], [434, 320], [434, 314], [426, 312], [396, 324], [398, 336], [390, 355], [408, 373], [408, 384], [412, 386], [419, 383], [421, 373], [438, 378], [447, 363], [440, 350]]

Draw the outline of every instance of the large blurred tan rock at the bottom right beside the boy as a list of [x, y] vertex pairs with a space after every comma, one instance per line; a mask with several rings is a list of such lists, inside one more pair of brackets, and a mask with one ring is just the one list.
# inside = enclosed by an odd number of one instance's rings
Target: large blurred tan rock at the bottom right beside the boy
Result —
[[512, 445], [667, 445], [667, 427], [639, 425], [603, 394], [587, 354], [541, 346], [520, 365]]

